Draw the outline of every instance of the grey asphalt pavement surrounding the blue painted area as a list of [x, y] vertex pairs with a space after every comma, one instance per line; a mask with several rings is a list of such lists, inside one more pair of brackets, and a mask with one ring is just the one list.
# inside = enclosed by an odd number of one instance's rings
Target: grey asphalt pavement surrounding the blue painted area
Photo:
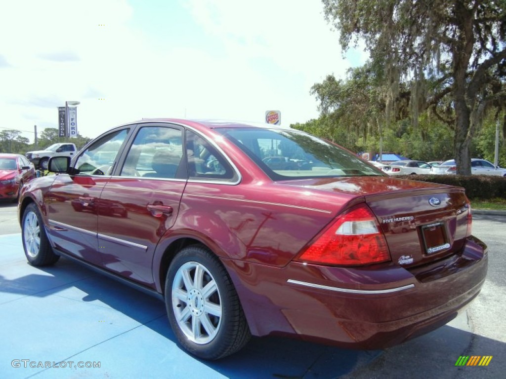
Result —
[[[0, 234], [20, 233], [17, 206], [0, 203]], [[370, 364], [342, 376], [372, 378], [482, 378], [506, 372], [506, 216], [474, 215], [473, 234], [489, 248], [487, 280], [465, 312], [432, 333], [387, 349]], [[21, 244], [21, 240], [20, 240]], [[488, 366], [455, 366], [459, 356], [493, 356]], [[332, 362], [328, 362], [332, 364]]]

